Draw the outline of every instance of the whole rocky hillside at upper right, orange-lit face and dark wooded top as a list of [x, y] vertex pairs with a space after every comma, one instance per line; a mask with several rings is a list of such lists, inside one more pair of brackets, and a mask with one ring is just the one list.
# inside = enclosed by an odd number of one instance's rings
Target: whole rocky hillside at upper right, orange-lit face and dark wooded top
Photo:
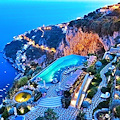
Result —
[[69, 22], [64, 55], [102, 54], [120, 43], [120, 4], [106, 6]]

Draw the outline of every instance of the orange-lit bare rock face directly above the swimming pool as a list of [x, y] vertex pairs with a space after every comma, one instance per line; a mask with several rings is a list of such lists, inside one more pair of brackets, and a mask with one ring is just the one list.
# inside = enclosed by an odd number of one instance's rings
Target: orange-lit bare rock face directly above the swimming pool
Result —
[[68, 45], [63, 48], [64, 55], [88, 53], [101, 54], [104, 51], [103, 43], [98, 34], [83, 32], [80, 28], [68, 28], [66, 33]]

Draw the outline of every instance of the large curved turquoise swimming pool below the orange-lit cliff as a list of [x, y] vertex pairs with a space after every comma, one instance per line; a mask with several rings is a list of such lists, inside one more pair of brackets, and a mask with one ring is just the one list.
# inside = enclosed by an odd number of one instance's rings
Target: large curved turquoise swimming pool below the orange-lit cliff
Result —
[[60, 71], [64, 70], [64, 68], [72, 67], [72, 66], [80, 66], [85, 61], [86, 61], [86, 57], [79, 55], [68, 55], [61, 57], [56, 61], [54, 61], [47, 68], [45, 68], [42, 72], [40, 72], [35, 77], [35, 79], [40, 77], [42, 78], [42, 81], [40, 83], [43, 83], [44, 80], [46, 83], [51, 83], [55, 78], [57, 72], [59, 72], [60, 74], [61, 73]]

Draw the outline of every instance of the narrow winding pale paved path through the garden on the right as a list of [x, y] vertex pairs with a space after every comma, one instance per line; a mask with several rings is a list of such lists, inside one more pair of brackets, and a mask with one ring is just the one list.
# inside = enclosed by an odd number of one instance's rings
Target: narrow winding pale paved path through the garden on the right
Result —
[[108, 68], [112, 65], [113, 62], [115, 62], [116, 58], [112, 60], [109, 64], [107, 64], [101, 71], [100, 71], [100, 76], [102, 78], [102, 81], [98, 87], [97, 93], [94, 95], [92, 98], [92, 103], [88, 108], [84, 108], [83, 111], [86, 113], [86, 118], [87, 120], [92, 120], [92, 114], [93, 110], [98, 106], [100, 102], [105, 101], [106, 99], [101, 98], [101, 88], [107, 86], [107, 79], [105, 77], [105, 73], [108, 71]]

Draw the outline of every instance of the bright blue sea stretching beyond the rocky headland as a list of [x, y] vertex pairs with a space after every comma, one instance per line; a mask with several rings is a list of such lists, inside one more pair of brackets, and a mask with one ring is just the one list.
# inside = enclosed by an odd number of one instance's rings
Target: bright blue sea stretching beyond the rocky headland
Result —
[[[2, 2], [1, 2], [2, 1]], [[12, 65], [3, 58], [1, 51], [13, 40], [14, 36], [37, 28], [69, 22], [77, 17], [118, 1], [81, 1], [81, 2], [44, 2], [0, 0], [0, 103], [18, 74]]]

